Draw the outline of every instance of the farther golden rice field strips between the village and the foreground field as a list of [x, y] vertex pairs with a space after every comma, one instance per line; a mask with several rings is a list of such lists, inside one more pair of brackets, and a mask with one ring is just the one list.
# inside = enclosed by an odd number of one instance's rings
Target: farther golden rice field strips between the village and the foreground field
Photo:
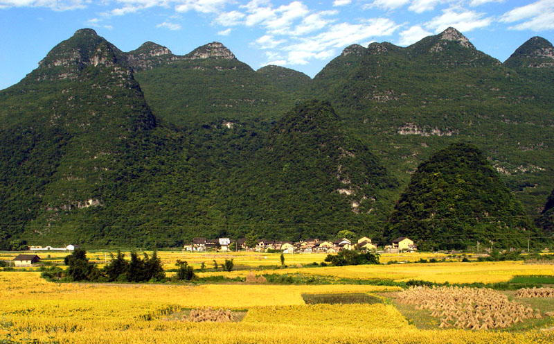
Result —
[[[50, 255], [50, 261], [62, 262], [67, 252], [49, 251], [39, 253], [39, 256], [46, 258]], [[129, 258], [126, 252], [127, 259]], [[152, 252], [148, 252], [152, 254]], [[13, 259], [17, 253], [0, 253], [0, 260]], [[280, 266], [280, 254], [264, 252], [207, 252], [191, 253], [181, 251], [159, 251], [159, 257], [163, 263], [163, 268], [175, 268], [177, 259], [184, 259], [189, 264], [193, 264], [200, 277], [222, 275], [226, 277], [245, 277], [249, 273], [249, 267], [256, 269], [256, 275], [262, 274], [289, 274], [303, 273], [307, 275], [321, 275], [337, 278], [352, 279], [393, 279], [395, 282], [408, 281], [409, 279], [425, 280], [436, 283], [495, 283], [506, 282], [514, 275], [554, 275], [554, 265], [552, 264], [524, 264], [523, 261], [494, 261], [494, 262], [440, 262], [433, 264], [391, 264], [391, 265], [365, 265], [365, 266], [343, 266], [343, 267], [316, 267], [302, 268], [298, 266], [307, 266], [313, 262], [321, 263], [327, 257], [325, 254], [294, 254], [285, 255], [285, 264], [288, 268], [275, 269]], [[91, 261], [103, 266], [105, 259], [109, 261], [109, 252], [88, 252], [87, 257]], [[380, 260], [390, 261], [418, 261], [420, 259], [443, 259], [447, 257], [444, 254], [434, 254], [427, 252], [415, 252], [405, 254], [384, 254]], [[199, 268], [204, 262], [206, 268], [213, 268], [213, 261], [221, 266], [225, 259], [233, 259], [237, 270], [231, 273], [224, 271], [206, 271], [199, 273]], [[172, 273], [168, 273], [172, 275]]]

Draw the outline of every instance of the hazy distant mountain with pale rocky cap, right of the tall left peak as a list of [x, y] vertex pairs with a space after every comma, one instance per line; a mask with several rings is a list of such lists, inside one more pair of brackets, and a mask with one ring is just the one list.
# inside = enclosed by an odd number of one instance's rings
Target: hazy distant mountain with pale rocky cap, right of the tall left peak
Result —
[[179, 126], [276, 119], [294, 105], [283, 81], [256, 73], [219, 42], [173, 56], [135, 77], [154, 114]]

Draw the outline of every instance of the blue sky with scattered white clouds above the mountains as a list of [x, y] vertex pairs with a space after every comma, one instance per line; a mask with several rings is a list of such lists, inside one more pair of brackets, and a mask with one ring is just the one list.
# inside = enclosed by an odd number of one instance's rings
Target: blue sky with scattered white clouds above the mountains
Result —
[[313, 77], [350, 44], [407, 46], [449, 26], [504, 61], [535, 35], [554, 42], [554, 0], [0, 0], [0, 23], [0, 89], [87, 27], [123, 51], [218, 41], [253, 69]]

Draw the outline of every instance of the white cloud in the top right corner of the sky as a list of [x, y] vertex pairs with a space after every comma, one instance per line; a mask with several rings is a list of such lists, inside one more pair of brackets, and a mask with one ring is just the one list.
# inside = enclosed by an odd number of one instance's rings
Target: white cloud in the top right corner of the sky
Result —
[[510, 26], [513, 30], [551, 30], [554, 28], [554, 0], [539, 0], [514, 8], [504, 13], [500, 21], [505, 23], [525, 21], [516, 26]]

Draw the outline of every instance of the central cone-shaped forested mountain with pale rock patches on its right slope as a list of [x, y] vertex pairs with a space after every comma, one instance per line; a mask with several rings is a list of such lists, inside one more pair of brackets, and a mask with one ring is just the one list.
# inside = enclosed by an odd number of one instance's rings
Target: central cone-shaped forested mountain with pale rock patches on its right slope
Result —
[[340, 128], [331, 105], [317, 100], [277, 121], [256, 160], [233, 180], [226, 213], [258, 223], [268, 239], [332, 238], [343, 229], [377, 234], [397, 185], [379, 158]]

